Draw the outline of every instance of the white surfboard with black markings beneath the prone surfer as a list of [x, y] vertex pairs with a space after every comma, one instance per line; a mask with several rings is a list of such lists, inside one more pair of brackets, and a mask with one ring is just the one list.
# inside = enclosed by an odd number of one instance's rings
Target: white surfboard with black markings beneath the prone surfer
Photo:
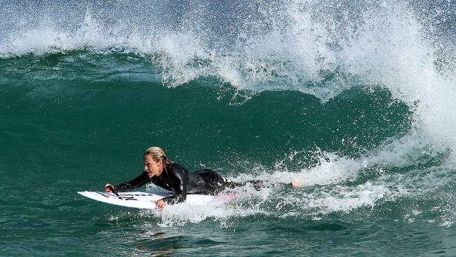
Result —
[[[174, 195], [174, 192], [119, 192], [119, 197], [108, 192], [84, 191], [78, 192], [78, 194], [107, 204], [138, 209], [155, 209], [155, 204], [151, 201], [169, 197]], [[234, 198], [236, 198], [236, 195], [187, 195], [187, 201], [185, 202], [187, 204], [201, 206], [206, 204], [222, 204]]]

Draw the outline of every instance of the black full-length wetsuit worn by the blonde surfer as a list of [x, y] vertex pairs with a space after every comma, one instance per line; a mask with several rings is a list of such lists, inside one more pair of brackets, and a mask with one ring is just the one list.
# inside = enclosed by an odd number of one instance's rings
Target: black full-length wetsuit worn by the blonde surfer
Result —
[[[222, 178], [222, 176], [211, 169], [202, 169], [201, 171], [189, 173], [180, 164], [173, 163], [166, 165], [160, 176], [149, 178], [147, 172], [144, 171], [140, 176], [133, 178], [133, 180], [115, 185], [114, 190], [117, 192], [128, 192], [149, 182], [175, 192], [175, 195], [163, 198], [166, 204], [185, 202], [187, 194], [217, 195], [226, 188], [234, 188], [246, 184], [235, 183]], [[260, 180], [248, 182], [253, 183], [254, 186], [262, 183]], [[255, 189], [257, 189], [257, 186], [255, 186]]]

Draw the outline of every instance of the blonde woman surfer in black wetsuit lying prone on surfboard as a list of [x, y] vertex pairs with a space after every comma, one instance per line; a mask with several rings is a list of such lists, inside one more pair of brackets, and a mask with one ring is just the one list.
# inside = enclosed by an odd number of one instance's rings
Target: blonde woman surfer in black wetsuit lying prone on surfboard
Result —
[[[236, 183], [227, 178], [222, 178], [211, 169], [202, 169], [189, 173], [180, 164], [166, 157], [160, 147], [150, 147], [146, 150], [142, 159], [145, 171], [140, 176], [119, 185], [105, 185], [105, 192], [128, 192], [147, 183], [154, 183], [166, 190], [175, 192], [175, 195], [154, 201], [156, 209], [163, 209], [166, 204], [185, 202], [187, 194], [217, 195], [227, 188], [234, 188], [250, 183], [255, 190], [263, 187], [262, 180], [249, 180], [244, 183]], [[293, 183], [290, 183], [293, 185]]]

